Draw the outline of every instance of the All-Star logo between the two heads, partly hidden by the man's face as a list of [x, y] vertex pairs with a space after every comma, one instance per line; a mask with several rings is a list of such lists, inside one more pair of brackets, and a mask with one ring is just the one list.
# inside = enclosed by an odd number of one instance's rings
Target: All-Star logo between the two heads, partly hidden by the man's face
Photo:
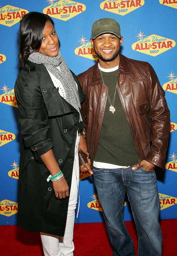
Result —
[[[85, 40], [86, 37], [80, 38], [78, 42], [81, 42], [80, 46], [75, 48], [74, 53], [81, 57], [97, 61], [98, 57], [89, 40]], [[87, 42], [86, 42], [87, 41]]]

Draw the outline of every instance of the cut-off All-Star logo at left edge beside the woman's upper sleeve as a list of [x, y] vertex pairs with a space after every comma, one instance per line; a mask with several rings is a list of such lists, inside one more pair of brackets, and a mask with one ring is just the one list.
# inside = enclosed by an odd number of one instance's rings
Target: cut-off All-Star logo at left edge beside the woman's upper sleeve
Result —
[[3, 90], [4, 92], [0, 95], [0, 102], [18, 108], [14, 89], [8, 88], [8, 86], [4, 83], [4, 86], [2, 86], [2, 89], [0, 90]]

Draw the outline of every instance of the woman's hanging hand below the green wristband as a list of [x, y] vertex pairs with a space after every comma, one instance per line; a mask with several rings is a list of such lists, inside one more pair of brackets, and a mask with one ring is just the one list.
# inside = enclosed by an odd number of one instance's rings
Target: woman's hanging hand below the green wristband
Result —
[[69, 196], [69, 187], [65, 178], [63, 178], [58, 182], [52, 183], [52, 185], [53, 185], [56, 198], [62, 199]]

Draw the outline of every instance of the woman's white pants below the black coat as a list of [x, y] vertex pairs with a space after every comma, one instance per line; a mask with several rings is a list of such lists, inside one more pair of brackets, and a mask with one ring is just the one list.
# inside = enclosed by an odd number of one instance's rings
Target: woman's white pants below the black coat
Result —
[[75, 157], [72, 173], [68, 214], [64, 237], [59, 237], [47, 233], [40, 233], [42, 247], [45, 256], [73, 256], [73, 229], [75, 219], [75, 209], [78, 199], [79, 189], [79, 158], [78, 158], [79, 135], [76, 137]]

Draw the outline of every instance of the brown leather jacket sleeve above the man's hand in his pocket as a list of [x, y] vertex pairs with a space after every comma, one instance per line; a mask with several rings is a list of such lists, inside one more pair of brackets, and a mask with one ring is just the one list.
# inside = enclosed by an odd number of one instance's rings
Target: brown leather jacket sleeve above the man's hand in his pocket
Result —
[[152, 145], [145, 160], [160, 168], [164, 168], [170, 135], [170, 111], [165, 100], [165, 92], [159, 83], [156, 72], [150, 64], [148, 100], [150, 103], [149, 117], [152, 120]]

